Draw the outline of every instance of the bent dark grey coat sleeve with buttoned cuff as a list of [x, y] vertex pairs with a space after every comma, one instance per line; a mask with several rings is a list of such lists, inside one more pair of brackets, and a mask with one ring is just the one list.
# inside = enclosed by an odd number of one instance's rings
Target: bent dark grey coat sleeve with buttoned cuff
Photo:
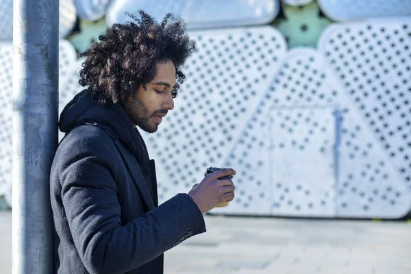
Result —
[[115, 147], [101, 138], [66, 143], [59, 160], [62, 202], [75, 247], [90, 273], [125, 273], [176, 242], [206, 232], [203, 215], [179, 194], [138, 219], [121, 224]]

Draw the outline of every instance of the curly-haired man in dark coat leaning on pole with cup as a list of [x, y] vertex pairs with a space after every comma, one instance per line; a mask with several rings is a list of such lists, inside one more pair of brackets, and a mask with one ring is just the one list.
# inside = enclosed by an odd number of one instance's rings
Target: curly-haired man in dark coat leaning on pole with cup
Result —
[[188, 194], [158, 206], [153, 160], [136, 125], [155, 132], [195, 49], [184, 22], [161, 24], [140, 12], [83, 53], [79, 83], [66, 105], [66, 132], [51, 167], [57, 273], [163, 273], [164, 251], [206, 232], [203, 213], [234, 199], [232, 169], [205, 177]]

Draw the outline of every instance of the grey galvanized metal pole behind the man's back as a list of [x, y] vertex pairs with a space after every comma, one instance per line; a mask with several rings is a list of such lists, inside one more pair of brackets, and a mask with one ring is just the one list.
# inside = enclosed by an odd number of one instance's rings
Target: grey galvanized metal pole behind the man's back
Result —
[[58, 142], [58, 0], [13, 3], [12, 272], [53, 273], [49, 174]]

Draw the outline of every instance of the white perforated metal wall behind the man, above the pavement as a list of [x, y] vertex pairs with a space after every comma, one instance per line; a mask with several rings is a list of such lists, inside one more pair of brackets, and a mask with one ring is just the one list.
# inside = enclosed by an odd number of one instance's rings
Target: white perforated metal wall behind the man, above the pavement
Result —
[[[317, 49], [288, 51], [273, 27], [190, 32], [175, 110], [142, 133], [160, 202], [208, 166], [237, 171], [236, 199], [212, 212], [398, 218], [411, 208], [409, 17], [338, 23]], [[60, 42], [60, 111], [82, 90]], [[11, 193], [12, 46], [0, 45], [0, 195]], [[61, 137], [62, 135], [60, 135]], [[9, 201], [10, 201], [9, 199]]]

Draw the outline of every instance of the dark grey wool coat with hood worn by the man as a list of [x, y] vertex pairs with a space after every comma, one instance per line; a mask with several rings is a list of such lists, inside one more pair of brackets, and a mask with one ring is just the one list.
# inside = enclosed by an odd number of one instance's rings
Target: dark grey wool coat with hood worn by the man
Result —
[[163, 273], [164, 251], [206, 231], [186, 194], [157, 206], [153, 160], [121, 106], [84, 90], [60, 116], [51, 167], [56, 273]]

